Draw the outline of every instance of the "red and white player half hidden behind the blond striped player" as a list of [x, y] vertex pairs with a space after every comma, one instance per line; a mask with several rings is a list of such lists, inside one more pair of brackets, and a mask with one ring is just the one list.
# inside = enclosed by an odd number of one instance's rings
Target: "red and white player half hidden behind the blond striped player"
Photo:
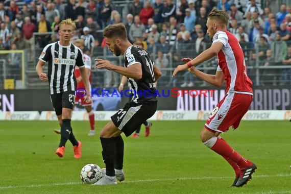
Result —
[[[84, 40], [83, 39], [76, 39], [74, 40], [74, 44], [79, 47], [81, 49], [81, 51], [84, 50]], [[89, 78], [89, 88], [91, 88], [91, 83], [92, 83], [92, 72], [91, 72], [91, 58], [83, 53], [83, 57], [84, 57], [84, 64], [85, 64], [85, 69]], [[85, 88], [84, 82], [82, 81], [81, 78], [81, 71], [79, 69], [78, 66], [75, 67], [75, 77], [77, 80], [77, 93], [76, 93], [76, 98], [75, 98], [75, 104], [74, 104], [74, 108], [76, 106], [76, 104], [81, 103], [81, 105], [83, 107], [85, 107], [88, 115], [89, 115], [89, 123], [90, 123], [90, 131], [88, 133], [88, 136], [92, 136], [95, 135], [95, 115], [94, 112], [92, 110], [92, 99], [90, 100], [85, 100], [85, 94], [82, 93], [83, 90], [81, 88]], [[73, 108], [73, 109], [74, 109]], [[58, 129], [55, 129], [55, 132], [60, 134], [61, 131]]]

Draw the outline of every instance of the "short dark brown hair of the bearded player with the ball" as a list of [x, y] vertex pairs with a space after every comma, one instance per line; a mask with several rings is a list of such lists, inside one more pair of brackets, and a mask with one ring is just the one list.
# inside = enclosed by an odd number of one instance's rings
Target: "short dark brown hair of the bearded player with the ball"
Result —
[[127, 32], [123, 23], [116, 23], [107, 26], [103, 31], [103, 36], [107, 38], [120, 38], [122, 40], [127, 39]]

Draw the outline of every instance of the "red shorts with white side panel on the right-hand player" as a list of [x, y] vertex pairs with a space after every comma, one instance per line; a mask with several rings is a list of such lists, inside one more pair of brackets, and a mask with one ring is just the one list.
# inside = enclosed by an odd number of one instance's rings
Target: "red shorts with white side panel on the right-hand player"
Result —
[[250, 94], [227, 93], [209, 114], [205, 128], [212, 132], [226, 132], [231, 126], [236, 129], [249, 110], [252, 99]]

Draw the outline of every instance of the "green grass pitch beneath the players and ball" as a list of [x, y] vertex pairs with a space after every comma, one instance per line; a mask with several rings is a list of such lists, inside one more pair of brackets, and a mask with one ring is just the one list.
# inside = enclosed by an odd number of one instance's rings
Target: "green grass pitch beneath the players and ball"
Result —
[[[99, 132], [107, 122], [96, 122]], [[0, 193], [290, 193], [291, 123], [244, 121], [222, 136], [258, 169], [241, 188], [230, 165], [200, 142], [201, 121], [154, 121], [137, 139], [125, 138], [126, 180], [90, 186], [80, 180], [88, 163], [104, 167], [99, 135], [87, 136], [89, 123], [72, 121], [82, 158], [74, 159], [68, 141], [63, 158], [55, 155], [57, 122], [1, 121]]]

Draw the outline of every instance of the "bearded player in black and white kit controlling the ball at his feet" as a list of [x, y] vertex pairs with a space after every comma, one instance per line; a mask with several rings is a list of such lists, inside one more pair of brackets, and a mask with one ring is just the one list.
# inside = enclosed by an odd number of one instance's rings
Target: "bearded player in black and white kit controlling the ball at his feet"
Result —
[[128, 38], [123, 23], [110, 25], [104, 29], [108, 50], [116, 56], [123, 55], [124, 67], [113, 65], [104, 59], [95, 59], [95, 68], [113, 70], [126, 76], [130, 89], [134, 93], [130, 101], [111, 116], [111, 121], [100, 132], [102, 156], [106, 168], [105, 176], [94, 185], [117, 184], [123, 181], [124, 141], [121, 133], [130, 136], [157, 109], [155, 82], [161, 71], [153, 63], [150, 55], [142, 48], [133, 46]]

